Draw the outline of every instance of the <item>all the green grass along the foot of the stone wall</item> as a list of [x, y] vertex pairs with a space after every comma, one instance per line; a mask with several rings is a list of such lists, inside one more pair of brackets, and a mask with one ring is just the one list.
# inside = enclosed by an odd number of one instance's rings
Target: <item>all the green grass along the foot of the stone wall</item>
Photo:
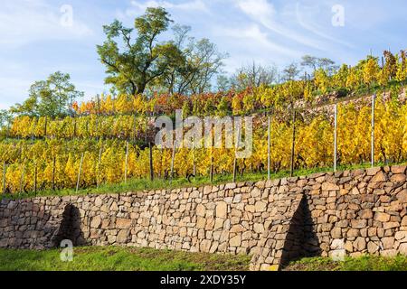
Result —
[[[0, 249], [0, 271], [247, 271], [251, 256], [188, 253], [135, 247], [76, 247], [73, 261], [62, 262], [61, 249]], [[407, 256], [304, 258], [284, 271], [407, 271]]]

